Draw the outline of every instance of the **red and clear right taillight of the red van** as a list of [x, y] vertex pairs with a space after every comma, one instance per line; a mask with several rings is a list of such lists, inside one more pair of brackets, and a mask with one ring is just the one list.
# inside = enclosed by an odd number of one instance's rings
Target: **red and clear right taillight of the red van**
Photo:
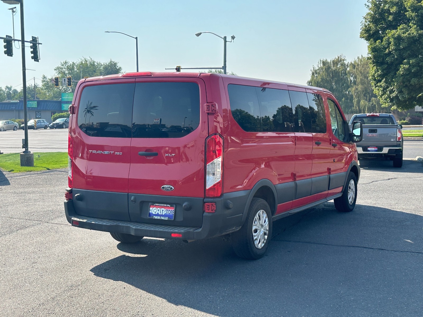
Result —
[[206, 197], [222, 195], [223, 139], [214, 134], [206, 139]]

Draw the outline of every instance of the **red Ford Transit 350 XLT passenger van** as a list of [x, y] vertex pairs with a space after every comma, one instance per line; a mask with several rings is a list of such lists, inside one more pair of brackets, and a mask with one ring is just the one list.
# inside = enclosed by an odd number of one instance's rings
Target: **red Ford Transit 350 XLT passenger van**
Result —
[[80, 80], [69, 112], [74, 227], [123, 243], [230, 234], [258, 259], [272, 221], [331, 199], [354, 209], [362, 127], [328, 90], [137, 72]]

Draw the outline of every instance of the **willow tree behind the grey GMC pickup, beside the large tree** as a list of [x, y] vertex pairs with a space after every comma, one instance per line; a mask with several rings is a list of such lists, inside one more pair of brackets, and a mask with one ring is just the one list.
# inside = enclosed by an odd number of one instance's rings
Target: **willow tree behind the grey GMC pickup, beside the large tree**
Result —
[[369, 71], [370, 65], [367, 57], [360, 56], [349, 63], [348, 74], [351, 81], [349, 91], [353, 98], [353, 112], [389, 112], [390, 108], [383, 108], [373, 91]]

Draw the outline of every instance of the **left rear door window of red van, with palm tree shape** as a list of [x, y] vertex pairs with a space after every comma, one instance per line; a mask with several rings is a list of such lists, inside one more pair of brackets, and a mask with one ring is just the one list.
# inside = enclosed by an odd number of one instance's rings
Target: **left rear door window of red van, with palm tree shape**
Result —
[[131, 137], [135, 84], [88, 86], [82, 90], [78, 126], [91, 137]]

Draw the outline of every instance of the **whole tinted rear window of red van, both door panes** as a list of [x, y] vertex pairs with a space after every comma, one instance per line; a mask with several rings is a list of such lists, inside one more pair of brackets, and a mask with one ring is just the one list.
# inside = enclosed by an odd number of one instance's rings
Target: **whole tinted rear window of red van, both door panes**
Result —
[[82, 90], [78, 126], [91, 137], [177, 138], [200, 123], [193, 82], [141, 82]]

